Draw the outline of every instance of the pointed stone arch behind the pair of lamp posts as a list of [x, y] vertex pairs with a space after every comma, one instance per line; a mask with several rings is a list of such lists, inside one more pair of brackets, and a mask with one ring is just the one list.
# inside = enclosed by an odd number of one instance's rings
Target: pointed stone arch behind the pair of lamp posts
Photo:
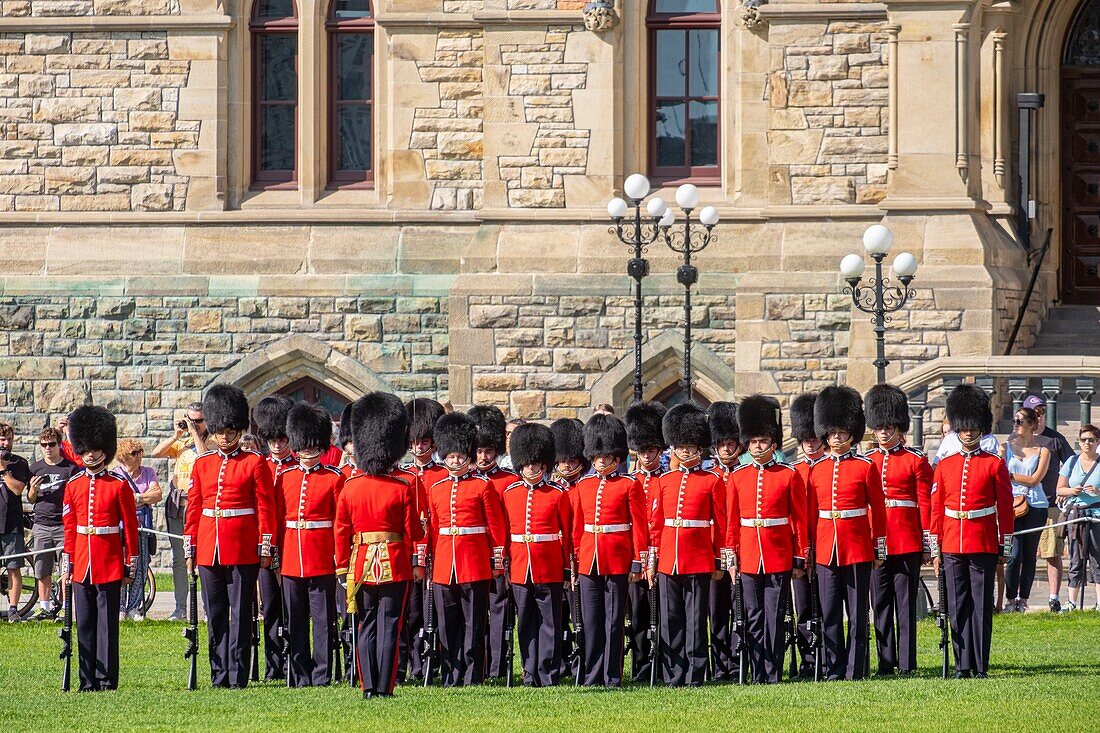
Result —
[[[691, 350], [695, 390], [711, 402], [732, 400], [734, 369], [705, 344], [695, 342]], [[664, 331], [641, 347], [641, 373], [649, 400], [675, 383], [683, 372], [683, 336]], [[592, 405], [608, 403], [622, 415], [634, 398], [634, 351], [619, 359], [591, 389]]]

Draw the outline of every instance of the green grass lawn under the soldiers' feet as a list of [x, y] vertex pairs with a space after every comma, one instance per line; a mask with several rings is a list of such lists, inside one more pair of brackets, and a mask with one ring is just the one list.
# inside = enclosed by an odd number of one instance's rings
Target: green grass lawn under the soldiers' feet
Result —
[[[921, 675], [865, 682], [708, 686], [697, 690], [399, 687], [364, 701], [346, 687], [184, 689], [183, 624], [124, 623], [121, 690], [58, 691], [57, 626], [0, 626], [0, 714], [11, 731], [1093, 731], [1100, 713], [1100, 614], [997, 619], [992, 677], [941, 680], [938, 630], [921, 625]], [[205, 634], [205, 627], [200, 633]], [[205, 636], [204, 636], [205, 638]], [[205, 644], [202, 645], [205, 650]], [[517, 657], [518, 667], [518, 657]], [[76, 666], [74, 659], [74, 686]], [[199, 665], [200, 686], [209, 680]]]

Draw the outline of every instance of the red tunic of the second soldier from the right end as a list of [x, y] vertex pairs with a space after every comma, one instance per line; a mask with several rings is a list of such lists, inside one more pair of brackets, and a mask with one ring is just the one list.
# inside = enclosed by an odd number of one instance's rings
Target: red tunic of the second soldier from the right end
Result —
[[867, 453], [887, 504], [887, 555], [926, 553], [932, 526], [932, 467], [920, 450], [898, 444]]

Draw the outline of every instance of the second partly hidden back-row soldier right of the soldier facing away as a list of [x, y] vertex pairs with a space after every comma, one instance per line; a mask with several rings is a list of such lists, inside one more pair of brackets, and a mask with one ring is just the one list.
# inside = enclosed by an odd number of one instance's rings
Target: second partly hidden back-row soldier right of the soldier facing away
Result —
[[[477, 425], [477, 457], [474, 459], [474, 470], [479, 475], [488, 479], [493, 488], [504, 500], [504, 490], [519, 481], [519, 475], [506, 471], [497, 464], [504, 455], [505, 425], [504, 413], [495, 405], [474, 405], [466, 412]], [[508, 579], [504, 576], [493, 579], [488, 589], [488, 648], [486, 676], [499, 679], [509, 674], [505, 669], [507, 659], [504, 654], [505, 625], [508, 616], [508, 604], [512, 593], [508, 590]]]

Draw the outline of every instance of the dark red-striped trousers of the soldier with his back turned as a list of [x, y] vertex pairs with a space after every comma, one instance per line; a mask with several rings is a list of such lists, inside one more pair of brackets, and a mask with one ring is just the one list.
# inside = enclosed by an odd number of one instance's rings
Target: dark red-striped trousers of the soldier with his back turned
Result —
[[394, 692], [409, 583], [360, 586], [355, 594], [355, 664], [364, 690]]

